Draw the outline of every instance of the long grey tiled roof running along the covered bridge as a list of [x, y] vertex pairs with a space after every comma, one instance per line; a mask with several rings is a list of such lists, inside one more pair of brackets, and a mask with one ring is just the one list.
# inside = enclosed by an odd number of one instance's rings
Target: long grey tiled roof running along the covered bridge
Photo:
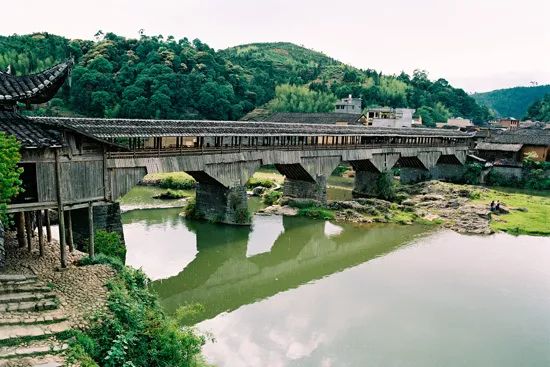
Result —
[[410, 136], [469, 138], [455, 130], [373, 128], [281, 122], [208, 120], [139, 120], [68, 117], [33, 117], [37, 123], [68, 128], [96, 138], [148, 138], [163, 136]]

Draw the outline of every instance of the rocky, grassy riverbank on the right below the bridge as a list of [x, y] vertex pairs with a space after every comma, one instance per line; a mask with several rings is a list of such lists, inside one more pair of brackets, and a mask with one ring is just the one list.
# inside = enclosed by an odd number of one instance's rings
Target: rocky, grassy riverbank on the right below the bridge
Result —
[[[459, 233], [550, 235], [550, 196], [542, 192], [486, 188], [439, 181], [398, 186], [396, 200], [353, 199], [328, 204], [283, 199], [261, 215], [318, 215], [355, 223], [433, 224]], [[491, 212], [491, 201], [503, 210]], [[311, 210], [305, 210], [310, 208]], [[313, 211], [313, 208], [317, 208]]]

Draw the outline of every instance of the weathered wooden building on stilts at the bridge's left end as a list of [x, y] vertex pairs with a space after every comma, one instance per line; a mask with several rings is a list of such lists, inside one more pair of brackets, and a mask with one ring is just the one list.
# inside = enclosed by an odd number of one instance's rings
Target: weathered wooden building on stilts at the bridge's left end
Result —
[[[20, 167], [24, 191], [12, 200], [8, 213], [14, 213], [21, 247], [31, 249], [34, 226], [38, 226], [40, 253], [47, 225], [51, 241], [48, 210], [59, 215], [61, 266], [66, 266], [65, 244], [73, 248], [71, 210], [106, 203], [108, 192], [104, 151], [113, 143], [60, 128], [23, 116], [21, 105], [45, 103], [67, 79], [73, 61], [67, 60], [42, 73], [15, 76], [0, 72], [0, 133], [14, 136], [21, 144]], [[90, 218], [90, 228], [93, 219]], [[93, 233], [90, 253], [93, 255]]]

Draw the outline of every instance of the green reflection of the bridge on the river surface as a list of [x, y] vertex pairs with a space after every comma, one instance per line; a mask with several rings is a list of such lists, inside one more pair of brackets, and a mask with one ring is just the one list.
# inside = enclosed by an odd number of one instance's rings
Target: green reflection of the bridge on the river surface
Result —
[[[161, 243], [168, 240], [164, 236], [155, 243], [142, 235], [130, 239], [130, 265], [148, 261], [143, 260], [147, 257], [143, 253], [140, 260], [135, 259], [135, 246], [151, 248], [158, 254], [151, 261], [160, 262], [161, 267], [177, 256], [170, 248], [187, 247], [183, 270], [154, 281], [153, 288], [170, 313], [181, 305], [203, 304], [205, 311], [192, 322], [213, 318], [374, 259], [429, 230], [423, 226], [336, 225], [306, 218], [258, 216], [251, 229], [186, 221], [174, 210], [130, 212], [125, 214], [124, 222], [125, 226], [144, 225], [145, 230], [147, 226], [162, 225], [155, 232], [173, 232], [172, 244]], [[190, 232], [195, 234], [195, 243]], [[135, 243], [140, 240], [148, 243]], [[146, 264], [143, 265], [147, 272]]]

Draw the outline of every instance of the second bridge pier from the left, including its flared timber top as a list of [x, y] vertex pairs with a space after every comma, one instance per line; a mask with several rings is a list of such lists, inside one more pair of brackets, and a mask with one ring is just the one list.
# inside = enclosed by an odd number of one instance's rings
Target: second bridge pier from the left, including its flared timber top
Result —
[[327, 177], [341, 161], [341, 156], [302, 157], [299, 163], [275, 164], [285, 176], [283, 195], [326, 202]]

